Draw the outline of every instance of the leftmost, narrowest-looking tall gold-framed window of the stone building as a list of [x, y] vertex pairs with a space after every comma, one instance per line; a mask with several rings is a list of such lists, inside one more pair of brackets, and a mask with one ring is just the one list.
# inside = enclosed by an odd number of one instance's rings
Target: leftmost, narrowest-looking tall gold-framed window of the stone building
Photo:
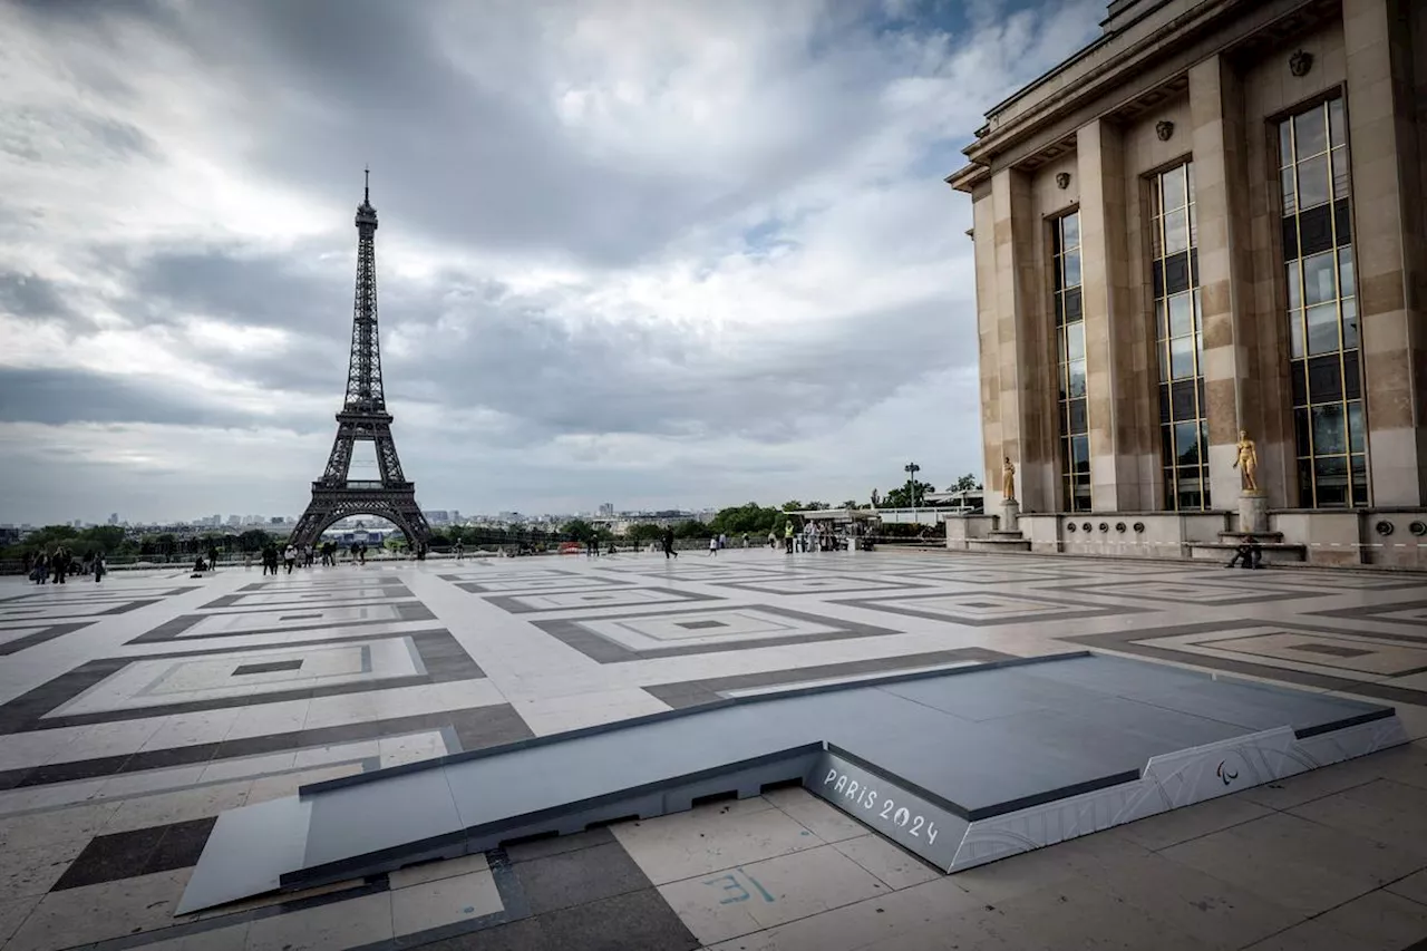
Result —
[[1085, 311], [1080, 293], [1080, 213], [1052, 221], [1056, 370], [1060, 398], [1062, 510], [1090, 511], [1090, 426], [1085, 400]]

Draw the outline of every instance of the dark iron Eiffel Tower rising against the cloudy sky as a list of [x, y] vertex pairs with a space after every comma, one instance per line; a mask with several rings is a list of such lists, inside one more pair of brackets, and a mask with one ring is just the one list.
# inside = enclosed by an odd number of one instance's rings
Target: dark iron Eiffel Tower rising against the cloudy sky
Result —
[[[395, 523], [415, 545], [431, 537], [417, 507], [417, 485], [407, 481], [391, 440], [391, 413], [381, 388], [381, 347], [377, 343], [377, 208], [371, 207], [371, 171], [357, 207], [357, 298], [352, 304], [352, 353], [347, 367], [347, 400], [337, 414], [337, 438], [327, 471], [313, 483], [313, 501], [293, 530], [291, 544], [317, 544], [323, 531], [348, 515], [377, 515]], [[352, 446], [377, 444], [380, 478], [352, 480]]]

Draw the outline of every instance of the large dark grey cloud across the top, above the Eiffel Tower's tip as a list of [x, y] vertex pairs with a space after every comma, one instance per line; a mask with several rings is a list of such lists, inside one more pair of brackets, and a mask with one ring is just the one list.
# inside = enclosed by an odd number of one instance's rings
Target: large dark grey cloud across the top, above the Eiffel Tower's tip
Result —
[[[96, 6], [106, 13], [91, 17]], [[803, 134], [728, 170], [723, 181], [676, 161], [631, 168], [618, 156], [586, 154], [578, 130], [559, 124], [548, 79], [534, 73], [532, 57], [518, 59], [544, 29], [519, 7], [489, 17], [485, 46], [471, 51], [509, 60], [502, 89], [450, 60], [438, 34], [442, 4], [257, 0], [176, 10], [74, 4], [61, 16], [96, 33], [103, 23], [136, 20], [183, 43], [245, 103], [228, 120], [255, 133], [255, 167], [351, 200], [370, 163], [384, 220], [467, 247], [629, 264], [692, 223], [778, 194], [823, 166], [832, 143], [848, 149], [878, 121], [876, 87], [849, 77], [806, 103]]]

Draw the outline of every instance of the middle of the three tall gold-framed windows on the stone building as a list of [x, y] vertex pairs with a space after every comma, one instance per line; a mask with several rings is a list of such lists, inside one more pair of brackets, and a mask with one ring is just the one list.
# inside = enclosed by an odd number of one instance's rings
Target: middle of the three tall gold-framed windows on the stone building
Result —
[[1194, 163], [1187, 161], [1154, 176], [1150, 187], [1150, 267], [1164, 507], [1209, 508], [1209, 420], [1204, 411]]

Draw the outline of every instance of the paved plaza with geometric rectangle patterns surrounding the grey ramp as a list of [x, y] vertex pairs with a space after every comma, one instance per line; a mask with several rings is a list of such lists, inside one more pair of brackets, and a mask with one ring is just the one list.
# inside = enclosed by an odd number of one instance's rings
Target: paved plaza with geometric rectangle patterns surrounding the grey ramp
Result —
[[[1085, 648], [1390, 703], [1414, 743], [956, 875], [788, 788], [174, 915], [217, 815], [303, 784]], [[0, 857], [3, 951], [1401, 951], [1427, 578], [766, 548], [6, 578]]]

